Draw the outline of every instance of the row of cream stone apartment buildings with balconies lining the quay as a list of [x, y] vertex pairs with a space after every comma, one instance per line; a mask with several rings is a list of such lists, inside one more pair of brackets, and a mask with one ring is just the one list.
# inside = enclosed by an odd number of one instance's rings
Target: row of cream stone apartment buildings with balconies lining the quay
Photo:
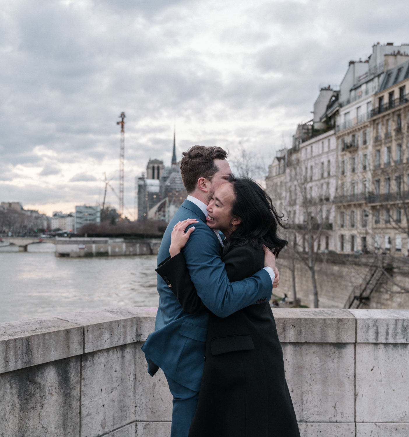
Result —
[[305, 197], [330, 211], [315, 250], [409, 253], [407, 49], [378, 43], [369, 59], [351, 61], [339, 91], [321, 89], [313, 120], [269, 167], [267, 190], [295, 229]]

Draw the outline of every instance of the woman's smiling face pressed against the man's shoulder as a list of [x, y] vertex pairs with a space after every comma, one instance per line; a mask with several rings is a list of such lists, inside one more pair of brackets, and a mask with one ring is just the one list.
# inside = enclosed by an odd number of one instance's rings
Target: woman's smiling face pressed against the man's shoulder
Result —
[[240, 219], [233, 218], [231, 215], [233, 202], [234, 191], [232, 185], [229, 182], [220, 185], [206, 208], [206, 222], [211, 229], [218, 229], [227, 236], [233, 231], [231, 225], [238, 225], [241, 222]]

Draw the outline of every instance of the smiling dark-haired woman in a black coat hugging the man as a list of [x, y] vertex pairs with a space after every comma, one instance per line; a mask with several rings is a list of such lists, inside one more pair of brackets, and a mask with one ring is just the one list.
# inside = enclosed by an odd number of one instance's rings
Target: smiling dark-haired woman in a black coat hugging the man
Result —
[[[226, 237], [221, 256], [231, 282], [263, 268], [263, 245], [277, 256], [287, 244], [277, 236], [282, 223], [271, 199], [252, 179], [231, 177], [216, 190], [207, 211], [207, 224]], [[204, 309], [181, 252], [194, 232], [185, 229], [194, 222], [175, 225], [171, 259], [157, 268], [162, 277], [173, 276], [172, 291], [188, 312]], [[269, 302], [225, 318], [210, 312], [199, 402], [189, 431], [189, 437], [202, 436], [300, 436]]]

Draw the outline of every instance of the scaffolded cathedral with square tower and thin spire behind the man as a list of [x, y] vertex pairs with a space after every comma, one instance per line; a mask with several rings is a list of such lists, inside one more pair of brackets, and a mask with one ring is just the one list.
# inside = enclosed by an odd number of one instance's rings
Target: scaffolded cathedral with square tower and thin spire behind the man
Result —
[[160, 160], [149, 160], [146, 178], [145, 173], [138, 178], [138, 220], [169, 222], [186, 197], [174, 137], [171, 166], [165, 167]]

